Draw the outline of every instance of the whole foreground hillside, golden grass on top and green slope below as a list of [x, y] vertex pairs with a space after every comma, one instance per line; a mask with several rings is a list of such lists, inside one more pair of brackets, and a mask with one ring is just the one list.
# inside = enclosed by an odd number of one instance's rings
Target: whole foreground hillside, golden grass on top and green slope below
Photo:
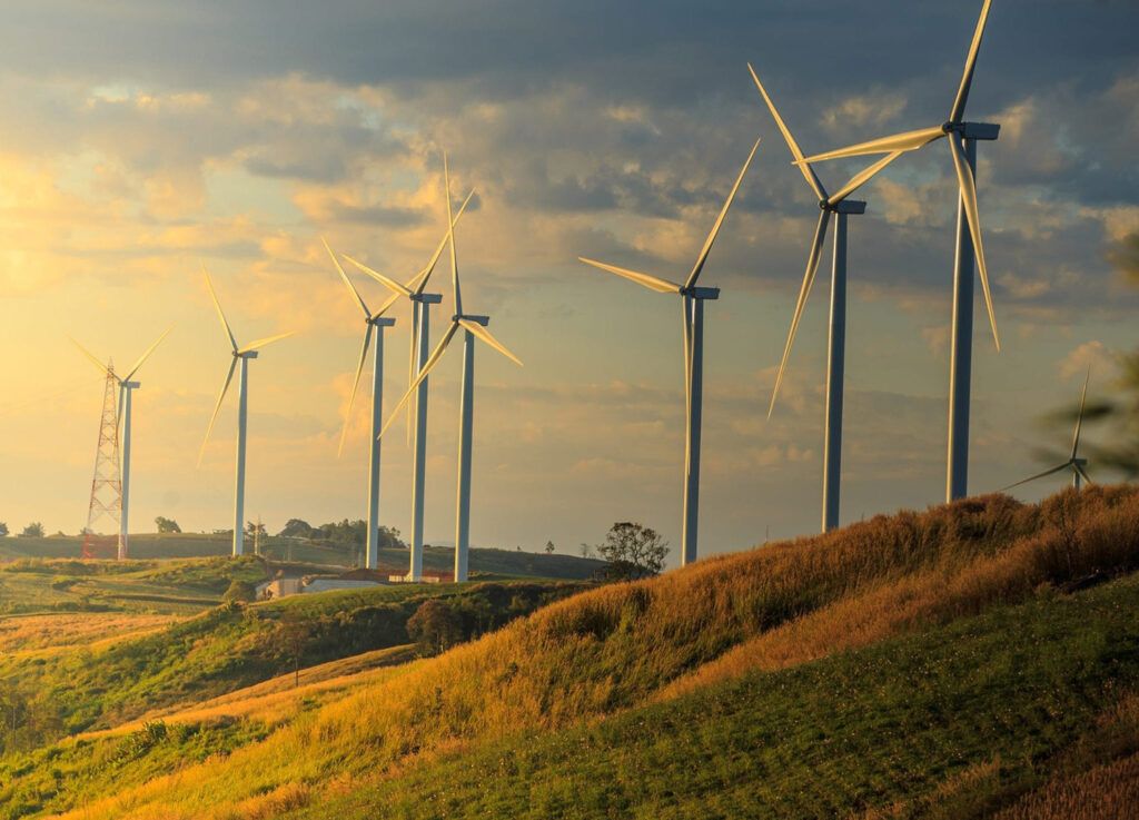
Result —
[[[588, 590], [436, 658], [314, 680], [319, 697], [251, 691], [9, 755], [0, 807], [1019, 818], [1088, 789], [1128, 806], [1137, 568], [1130, 487], [878, 517]], [[110, 780], [108, 760], [130, 765]]]

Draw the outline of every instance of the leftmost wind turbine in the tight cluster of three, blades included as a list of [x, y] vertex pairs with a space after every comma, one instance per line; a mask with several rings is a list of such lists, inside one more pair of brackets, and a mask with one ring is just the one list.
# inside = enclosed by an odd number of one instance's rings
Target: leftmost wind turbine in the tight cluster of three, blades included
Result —
[[339, 261], [336, 259], [336, 254], [325, 243], [325, 249], [328, 251], [328, 255], [333, 260], [333, 264], [336, 265], [336, 272], [341, 274], [341, 279], [344, 280], [344, 285], [347, 287], [349, 293], [351, 293], [357, 305], [360, 308], [360, 312], [363, 313], [364, 331], [363, 331], [363, 345], [360, 347], [360, 362], [357, 364], [355, 378], [352, 380], [352, 394], [349, 396], [349, 407], [344, 411], [344, 429], [341, 432], [341, 444], [339, 449], [336, 451], [337, 457], [344, 452], [344, 440], [349, 434], [349, 424], [352, 420], [352, 404], [355, 402], [357, 388], [360, 386], [360, 376], [363, 374], [364, 362], [368, 360], [368, 348], [371, 346], [372, 334], [376, 337], [376, 352], [372, 356], [372, 368], [371, 368], [371, 441], [370, 441], [370, 452], [368, 458], [368, 539], [367, 539], [367, 550], [364, 556], [364, 566], [368, 569], [376, 569], [379, 566], [379, 425], [382, 419], [382, 413], [384, 409], [384, 330], [386, 328], [395, 325], [395, 320], [385, 317], [384, 313], [395, 304], [395, 301], [400, 298], [399, 294], [394, 294], [387, 298], [384, 304], [380, 305], [379, 310], [371, 312], [368, 310], [368, 305], [364, 304], [363, 297], [360, 296], [360, 292], [355, 289], [352, 280], [349, 279], [344, 269], [341, 266]]

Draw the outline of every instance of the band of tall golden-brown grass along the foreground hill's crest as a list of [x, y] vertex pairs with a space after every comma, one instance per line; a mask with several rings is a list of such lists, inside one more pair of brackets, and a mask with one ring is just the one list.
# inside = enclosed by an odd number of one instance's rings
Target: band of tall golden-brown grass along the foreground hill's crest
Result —
[[441, 749], [593, 720], [662, 690], [787, 666], [1137, 565], [1139, 493], [1124, 487], [878, 517], [554, 604], [352, 690], [224, 761], [66, 817], [228, 818], [226, 806], [288, 784], [374, 777]]

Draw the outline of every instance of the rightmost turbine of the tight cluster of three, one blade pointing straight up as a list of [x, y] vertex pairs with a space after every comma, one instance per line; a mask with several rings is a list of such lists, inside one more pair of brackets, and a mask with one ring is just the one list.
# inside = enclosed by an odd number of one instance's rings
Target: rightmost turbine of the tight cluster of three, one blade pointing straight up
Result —
[[451, 175], [446, 165], [446, 155], [443, 155], [443, 180], [446, 187], [446, 215], [451, 229], [448, 239], [451, 245], [451, 287], [454, 293], [454, 315], [451, 317], [451, 325], [448, 327], [443, 338], [432, 351], [431, 356], [419, 369], [419, 375], [411, 383], [408, 392], [403, 394], [399, 404], [392, 411], [387, 424], [380, 429], [380, 435], [395, 420], [400, 408], [411, 397], [411, 394], [419, 388], [427, 379], [428, 374], [440, 362], [448, 346], [454, 338], [456, 333], [462, 330], [462, 386], [459, 392], [459, 481], [456, 492], [456, 525], [454, 525], [454, 580], [467, 580], [467, 559], [470, 552], [470, 448], [475, 420], [475, 339], [494, 348], [515, 364], [521, 366], [522, 361], [508, 351], [491, 331], [486, 329], [491, 318], [489, 315], [476, 315], [464, 313], [462, 290], [459, 286], [459, 261], [454, 245], [454, 222], [451, 220]]

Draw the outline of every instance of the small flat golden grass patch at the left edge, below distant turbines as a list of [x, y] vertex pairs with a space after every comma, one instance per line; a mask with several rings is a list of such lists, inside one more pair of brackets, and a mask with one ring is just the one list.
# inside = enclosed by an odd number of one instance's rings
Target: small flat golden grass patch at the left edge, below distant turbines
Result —
[[172, 615], [26, 615], [0, 618], [0, 653], [33, 653], [75, 646], [109, 646], [155, 632], [181, 618]]

